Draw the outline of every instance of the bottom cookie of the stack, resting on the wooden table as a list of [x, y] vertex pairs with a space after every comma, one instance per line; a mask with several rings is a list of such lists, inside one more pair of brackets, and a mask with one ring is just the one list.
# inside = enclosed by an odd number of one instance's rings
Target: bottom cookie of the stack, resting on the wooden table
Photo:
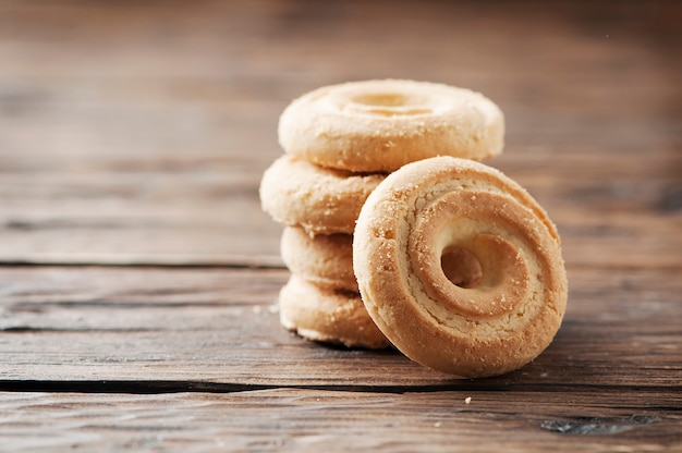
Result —
[[373, 350], [390, 345], [357, 293], [317, 286], [291, 276], [280, 291], [279, 310], [282, 326], [308, 340]]

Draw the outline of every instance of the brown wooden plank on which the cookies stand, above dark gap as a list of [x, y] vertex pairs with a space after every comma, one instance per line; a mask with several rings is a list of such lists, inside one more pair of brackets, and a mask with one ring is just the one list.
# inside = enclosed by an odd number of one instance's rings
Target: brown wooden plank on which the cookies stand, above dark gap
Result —
[[[569, 310], [552, 345], [522, 370], [475, 387], [682, 390], [677, 274], [571, 270]], [[48, 267], [1, 268], [0, 276], [0, 376], [9, 387], [474, 385], [395, 352], [350, 352], [289, 334], [272, 309], [284, 270]]]

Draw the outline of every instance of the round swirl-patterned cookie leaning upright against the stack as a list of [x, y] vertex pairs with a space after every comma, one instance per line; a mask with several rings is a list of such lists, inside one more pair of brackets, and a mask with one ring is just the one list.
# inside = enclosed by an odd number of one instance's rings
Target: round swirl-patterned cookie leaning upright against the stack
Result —
[[559, 235], [515, 182], [483, 163], [422, 160], [365, 203], [353, 244], [363, 301], [407, 357], [501, 375], [552, 341], [568, 282]]

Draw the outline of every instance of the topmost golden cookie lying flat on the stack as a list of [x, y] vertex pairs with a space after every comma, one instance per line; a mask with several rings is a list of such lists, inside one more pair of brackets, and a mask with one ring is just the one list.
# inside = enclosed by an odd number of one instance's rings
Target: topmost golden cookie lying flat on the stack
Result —
[[504, 117], [468, 89], [364, 81], [301, 96], [282, 112], [278, 132], [287, 152], [319, 166], [391, 172], [434, 156], [497, 156], [504, 146]]

